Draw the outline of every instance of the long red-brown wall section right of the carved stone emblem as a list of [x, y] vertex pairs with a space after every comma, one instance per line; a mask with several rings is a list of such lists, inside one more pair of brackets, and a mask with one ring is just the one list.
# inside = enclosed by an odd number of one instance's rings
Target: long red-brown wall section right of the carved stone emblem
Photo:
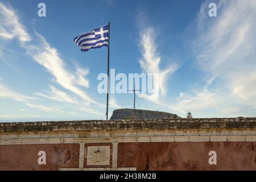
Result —
[[[256, 170], [256, 142], [119, 143], [118, 167], [137, 170]], [[209, 152], [217, 164], [210, 165]]]

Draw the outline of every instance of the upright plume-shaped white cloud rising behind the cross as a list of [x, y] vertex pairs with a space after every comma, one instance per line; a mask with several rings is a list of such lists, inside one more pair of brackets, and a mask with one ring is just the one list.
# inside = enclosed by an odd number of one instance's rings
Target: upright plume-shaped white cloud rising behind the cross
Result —
[[[138, 96], [159, 106], [166, 105], [168, 107], [164, 101], [168, 93], [168, 79], [177, 71], [179, 64], [173, 60], [162, 60], [162, 55], [158, 50], [161, 45], [156, 42], [156, 39], [159, 38], [158, 33], [155, 27], [150, 26], [147, 11], [138, 9], [136, 20], [139, 29], [138, 47], [142, 55], [139, 59], [139, 65], [143, 73], [156, 73], [152, 78], [147, 78], [148, 81], [152, 81], [153, 88], [155, 88], [154, 92], [152, 94], [139, 94]], [[163, 62], [167, 65], [164, 69], [161, 68]]]

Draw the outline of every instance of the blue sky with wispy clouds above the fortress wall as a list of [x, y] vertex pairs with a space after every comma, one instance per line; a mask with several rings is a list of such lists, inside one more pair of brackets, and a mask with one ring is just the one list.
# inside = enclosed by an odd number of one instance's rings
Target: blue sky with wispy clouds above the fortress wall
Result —
[[[105, 119], [107, 48], [82, 52], [73, 38], [108, 22], [110, 68], [160, 75], [159, 97], [138, 94], [138, 109], [255, 117], [255, 17], [253, 0], [1, 1], [0, 121]], [[110, 94], [109, 117], [118, 108], [133, 94]]]

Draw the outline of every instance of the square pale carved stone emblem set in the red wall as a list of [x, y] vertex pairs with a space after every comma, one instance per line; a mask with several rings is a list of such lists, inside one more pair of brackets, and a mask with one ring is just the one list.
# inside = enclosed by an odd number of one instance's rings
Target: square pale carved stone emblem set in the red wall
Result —
[[88, 146], [87, 147], [87, 165], [109, 165], [110, 146]]

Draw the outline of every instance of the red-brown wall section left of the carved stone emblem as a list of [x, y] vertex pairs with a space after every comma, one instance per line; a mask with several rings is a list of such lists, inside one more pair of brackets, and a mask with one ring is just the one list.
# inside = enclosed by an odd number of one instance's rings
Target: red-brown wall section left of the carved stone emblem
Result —
[[[38, 164], [39, 151], [46, 164]], [[59, 170], [79, 167], [79, 144], [16, 144], [0, 146], [0, 170]]]

